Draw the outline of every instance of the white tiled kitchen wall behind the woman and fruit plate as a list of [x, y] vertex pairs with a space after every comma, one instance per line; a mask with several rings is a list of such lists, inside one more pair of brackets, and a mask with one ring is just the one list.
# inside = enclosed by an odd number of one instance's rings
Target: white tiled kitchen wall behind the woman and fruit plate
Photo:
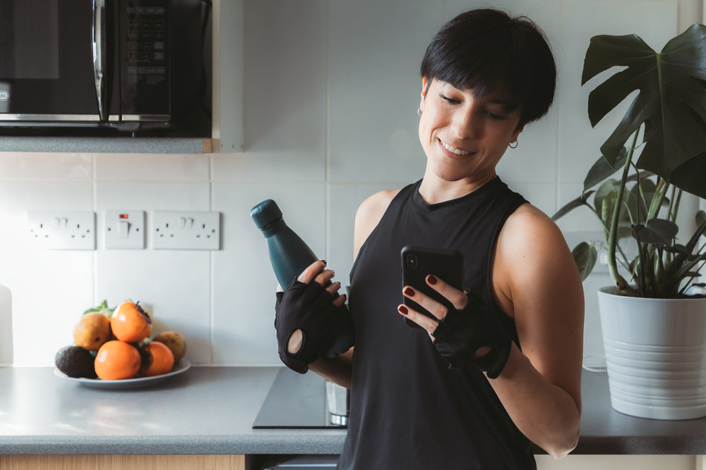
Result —
[[[445, 20], [488, 2], [245, 0], [244, 151], [232, 154], [0, 153], [0, 364], [50, 366], [80, 314], [103, 299], [139, 300], [157, 330], [174, 329], [195, 364], [277, 365], [276, 281], [249, 210], [275, 199], [285, 220], [347, 283], [357, 206], [377, 190], [421, 178], [418, 66]], [[547, 214], [573, 199], [611, 123], [592, 129], [580, 86], [592, 35], [636, 33], [654, 49], [701, 22], [700, 0], [493, 1], [541, 25], [560, 79], [549, 116], [520, 135], [498, 173]], [[222, 18], [221, 27], [227, 27]], [[223, 48], [227, 52], [227, 45]], [[597, 82], [591, 82], [595, 84]], [[229, 83], [222, 82], [221, 87]], [[613, 116], [613, 119], [618, 116]], [[228, 132], [221, 128], [221, 132]], [[108, 250], [103, 212], [220, 211], [214, 252]], [[38, 250], [26, 211], [95, 211], [95, 251]], [[598, 226], [587, 212], [559, 225], [573, 247]], [[602, 345], [595, 290], [585, 284], [586, 355]], [[1, 287], [1, 286], [0, 286]], [[5, 296], [5, 298], [8, 296]], [[592, 360], [592, 359], [591, 359]]]

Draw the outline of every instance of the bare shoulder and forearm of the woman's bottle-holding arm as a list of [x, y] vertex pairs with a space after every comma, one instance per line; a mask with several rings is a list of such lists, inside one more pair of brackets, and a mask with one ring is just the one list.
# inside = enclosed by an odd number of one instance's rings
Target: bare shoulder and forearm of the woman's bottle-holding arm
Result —
[[[357, 258], [360, 248], [380, 222], [397, 192], [398, 190], [377, 192], [358, 207], [353, 234], [353, 259]], [[320, 357], [309, 364], [309, 369], [328, 381], [350, 388], [352, 359], [353, 348], [337, 357]]]

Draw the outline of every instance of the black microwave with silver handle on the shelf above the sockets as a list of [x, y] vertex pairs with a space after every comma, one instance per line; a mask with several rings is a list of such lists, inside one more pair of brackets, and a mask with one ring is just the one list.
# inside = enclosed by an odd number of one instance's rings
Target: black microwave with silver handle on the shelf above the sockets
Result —
[[0, 133], [210, 132], [210, 11], [206, 0], [0, 0]]

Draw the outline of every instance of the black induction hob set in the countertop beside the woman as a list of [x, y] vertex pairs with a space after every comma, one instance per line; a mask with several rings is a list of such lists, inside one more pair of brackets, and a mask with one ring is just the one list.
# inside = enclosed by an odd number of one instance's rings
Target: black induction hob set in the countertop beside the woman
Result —
[[313, 372], [280, 369], [265, 397], [253, 429], [345, 429], [328, 412], [326, 381]]

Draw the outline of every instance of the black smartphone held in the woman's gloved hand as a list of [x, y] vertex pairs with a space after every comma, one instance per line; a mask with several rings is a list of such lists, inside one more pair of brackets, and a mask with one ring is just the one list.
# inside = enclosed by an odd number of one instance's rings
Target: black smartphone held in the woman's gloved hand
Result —
[[[441, 294], [426, 284], [426, 276], [433, 274], [445, 283], [463, 289], [463, 255], [455, 249], [415, 247], [407, 245], [402, 248], [402, 286], [409, 285], [419, 292], [424, 292], [432, 299], [448, 308], [453, 305]], [[421, 305], [405, 296], [403, 301], [407, 307], [419, 311], [431, 319], [436, 319]], [[414, 321], [405, 319], [409, 326], [419, 326]]]

